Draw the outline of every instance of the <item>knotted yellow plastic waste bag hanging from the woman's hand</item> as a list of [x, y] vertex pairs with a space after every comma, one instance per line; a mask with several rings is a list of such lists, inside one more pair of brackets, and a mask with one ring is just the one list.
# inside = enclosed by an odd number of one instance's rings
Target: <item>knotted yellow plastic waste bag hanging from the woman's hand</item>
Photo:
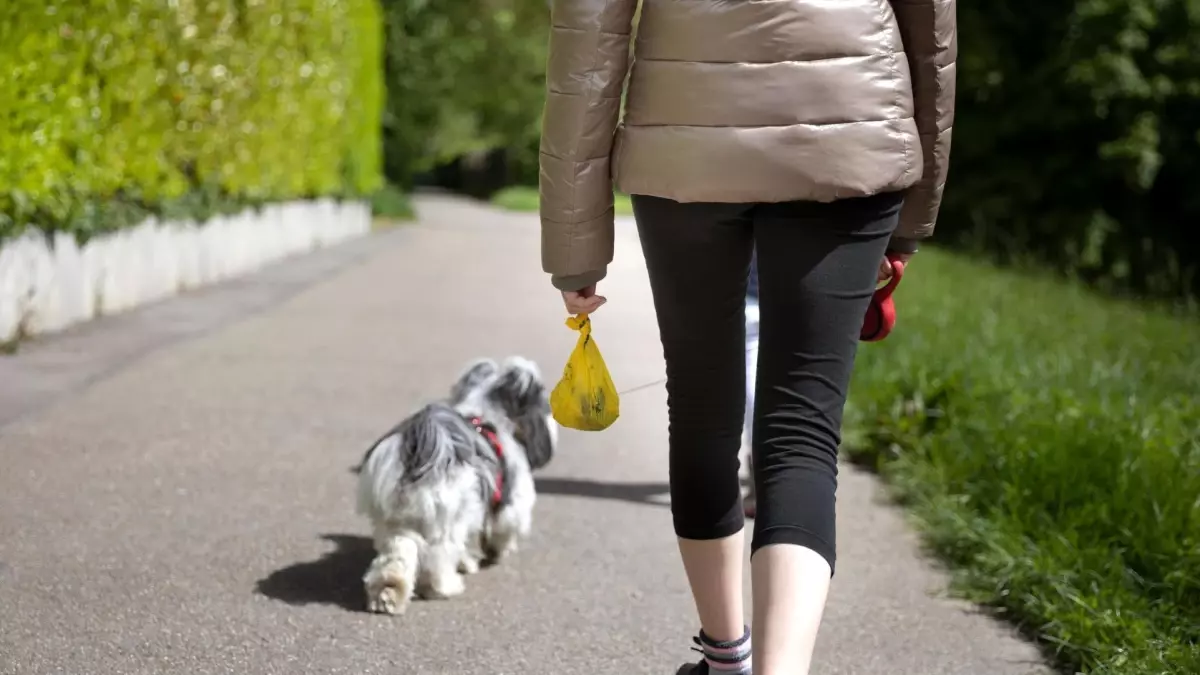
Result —
[[620, 398], [592, 339], [592, 319], [581, 313], [568, 318], [566, 325], [580, 331], [580, 340], [566, 359], [563, 378], [550, 393], [550, 410], [568, 429], [601, 431], [620, 416]]

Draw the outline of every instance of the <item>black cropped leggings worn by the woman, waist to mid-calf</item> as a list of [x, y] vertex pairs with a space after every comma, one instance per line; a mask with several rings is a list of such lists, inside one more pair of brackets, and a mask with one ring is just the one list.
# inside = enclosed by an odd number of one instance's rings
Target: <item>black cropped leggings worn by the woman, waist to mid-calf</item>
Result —
[[838, 446], [858, 335], [902, 197], [679, 203], [635, 196], [667, 365], [676, 533], [743, 527], [745, 292], [758, 253], [751, 555], [798, 544], [834, 566]]

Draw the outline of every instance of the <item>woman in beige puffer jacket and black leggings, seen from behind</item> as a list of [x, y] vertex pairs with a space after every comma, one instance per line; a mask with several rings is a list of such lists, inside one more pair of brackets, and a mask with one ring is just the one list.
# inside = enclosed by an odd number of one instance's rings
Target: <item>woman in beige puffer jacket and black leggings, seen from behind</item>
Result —
[[884, 255], [934, 232], [946, 181], [954, 1], [642, 0], [623, 120], [638, 0], [553, 1], [542, 268], [569, 311], [595, 311], [613, 179], [632, 196], [704, 657], [680, 674], [751, 671], [738, 450], [754, 249], [754, 673], [809, 671], [863, 315]]

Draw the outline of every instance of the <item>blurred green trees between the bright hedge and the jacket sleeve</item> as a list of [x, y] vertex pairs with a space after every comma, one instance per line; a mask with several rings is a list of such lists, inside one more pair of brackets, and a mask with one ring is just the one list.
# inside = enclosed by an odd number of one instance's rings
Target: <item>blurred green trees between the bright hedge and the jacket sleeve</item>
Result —
[[421, 172], [493, 148], [511, 149], [526, 174], [536, 167], [546, 0], [384, 0], [383, 7], [388, 178], [408, 186]]

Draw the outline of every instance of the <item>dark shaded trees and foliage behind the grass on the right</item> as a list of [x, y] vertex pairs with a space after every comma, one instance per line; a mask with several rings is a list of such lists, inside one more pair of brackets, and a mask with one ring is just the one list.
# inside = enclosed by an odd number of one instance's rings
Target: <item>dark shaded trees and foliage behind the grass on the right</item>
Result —
[[1200, 4], [959, 4], [938, 225], [1111, 289], [1200, 291]]

